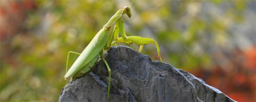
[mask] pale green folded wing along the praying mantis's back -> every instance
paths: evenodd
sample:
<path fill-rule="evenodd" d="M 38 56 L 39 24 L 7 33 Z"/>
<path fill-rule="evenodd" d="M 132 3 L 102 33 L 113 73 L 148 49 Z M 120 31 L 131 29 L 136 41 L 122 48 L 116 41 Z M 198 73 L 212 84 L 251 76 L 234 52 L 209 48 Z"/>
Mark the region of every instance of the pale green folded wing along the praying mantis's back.
<path fill-rule="evenodd" d="M 94 36 L 92 41 L 85 47 L 84 51 L 79 55 L 76 61 L 73 63 L 71 68 L 68 70 L 64 78 L 72 77 L 78 72 L 82 67 L 89 63 L 94 57 L 100 54 L 108 40 L 108 29 L 102 28 Z"/>

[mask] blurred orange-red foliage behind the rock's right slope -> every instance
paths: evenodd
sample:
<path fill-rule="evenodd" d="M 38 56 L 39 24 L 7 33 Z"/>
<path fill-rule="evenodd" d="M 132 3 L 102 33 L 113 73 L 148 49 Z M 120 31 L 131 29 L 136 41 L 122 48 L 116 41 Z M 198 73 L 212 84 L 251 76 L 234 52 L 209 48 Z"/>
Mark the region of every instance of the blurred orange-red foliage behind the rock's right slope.
<path fill-rule="evenodd" d="M 189 72 L 236 101 L 256 101 L 256 48 L 231 54 L 229 60 L 235 66 L 231 71 L 216 65 L 210 70 L 198 68 Z"/>

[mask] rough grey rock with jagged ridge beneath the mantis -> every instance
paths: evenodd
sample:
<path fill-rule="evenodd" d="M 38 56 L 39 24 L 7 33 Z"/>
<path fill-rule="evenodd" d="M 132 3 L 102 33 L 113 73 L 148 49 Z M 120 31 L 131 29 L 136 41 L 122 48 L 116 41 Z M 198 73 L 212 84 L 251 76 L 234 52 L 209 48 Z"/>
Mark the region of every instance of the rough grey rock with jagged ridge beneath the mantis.
<path fill-rule="evenodd" d="M 112 71 L 110 101 L 234 101 L 187 71 L 129 47 L 111 47 L 104 56 Z M 62 88 L 59 102 L 107 101 L 106 82 L 108 71 L 99 59 L 90 74 Z"/>

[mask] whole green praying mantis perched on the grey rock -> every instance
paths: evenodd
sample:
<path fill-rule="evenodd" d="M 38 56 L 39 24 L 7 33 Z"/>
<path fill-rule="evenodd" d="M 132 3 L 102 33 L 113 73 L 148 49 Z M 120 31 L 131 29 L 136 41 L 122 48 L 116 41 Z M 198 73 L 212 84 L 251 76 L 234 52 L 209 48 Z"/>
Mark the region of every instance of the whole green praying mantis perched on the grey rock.
<path fill-rule="evenodd" d="M 72 78 L 72 81 L 84 77 L 90 71 L 92 71 L 93 67 L 95 66 L 96 62 L 98 61 L 99 56 L 101 56 L 102 61 L 107 66 L 109 72 L 109 79 L 108 79 L 108 101 L 109 101 L 109 89 L 110 89 L 110 77 L 111 77 L 111 69 L 108 66 L 108 62 L 105 60 L 103 56 L 103 50 L 108 50 L 110 46 L 116 43 L 125 43 L 130 45 L 132 43 L 138 45 L 140 47 L 139 52 L 142 51 L 143 45 L 145 44 L 156 44 L 157 49 L 157 57 L 160 58 L 160 48 L 158 43 L 150 38 L 142 38 L 140 36 L 127 36 L 124 30 L 124 21 L 121 19 L 121 16 L 126 14 L 129 18 L 132 17 L 130 6 L 125 6 L 124 9 L 118 10 L 110 19 L 109 21 L 103 26 L 102 29 L 94 36 L 92 41 L 85 47 L 84 51 L 79 54 L 76 52 L 69 51 L 67 64 L 66 64 L 66 75 L 64 78 L 67 80 Z M 108 35 L 108 31 L 110 30 L 111 26 L 115 23 L 114 30 L 111 35 Z M 118 37 L 120 33 L 121 37 Z M 114 35 L 114 38 L 113 38 Z M 79 55 L 76 61 L 68 70 L 68 59 L 69 55 Z M 68 70 L 68 71 L 67 71 Z"/>

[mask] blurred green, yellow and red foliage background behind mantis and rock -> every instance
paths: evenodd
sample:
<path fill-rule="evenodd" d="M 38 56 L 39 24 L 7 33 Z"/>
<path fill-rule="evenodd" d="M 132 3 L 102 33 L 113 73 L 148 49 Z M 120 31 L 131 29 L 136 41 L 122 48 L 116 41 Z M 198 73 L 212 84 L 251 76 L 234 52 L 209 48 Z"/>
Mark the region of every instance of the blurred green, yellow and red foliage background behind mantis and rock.
<path fill-rule="evenodd" d="M 0 101 L 57 101 L 66 84 L 68 51 L 81 53 L 110 17 L 130 4 L 2 0 Z M 255 0 L 135 0 L 131 10 L 132 18 L 122 16 L 127 35 L 156 40 L 163 62 L 236 101 L 256 101 Z M 158 60 L 153 44 L 142 53 Z M 69 65 L 76 58 L 71 55 Z"/>

